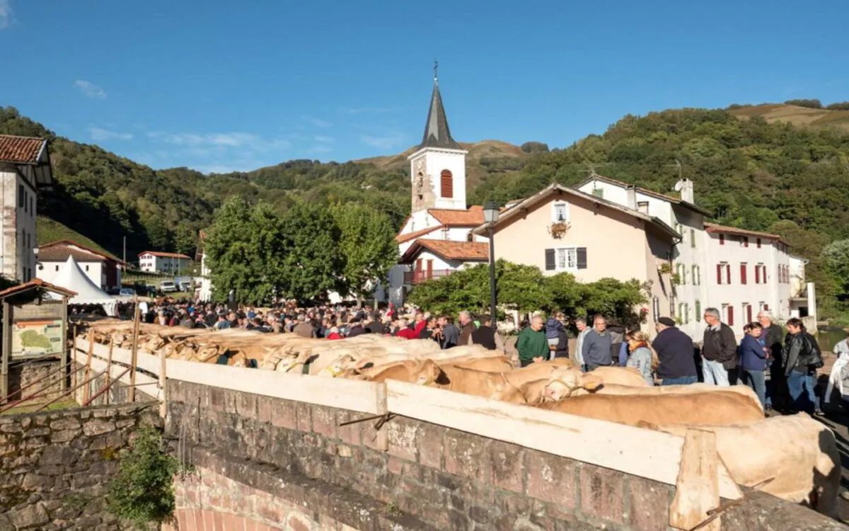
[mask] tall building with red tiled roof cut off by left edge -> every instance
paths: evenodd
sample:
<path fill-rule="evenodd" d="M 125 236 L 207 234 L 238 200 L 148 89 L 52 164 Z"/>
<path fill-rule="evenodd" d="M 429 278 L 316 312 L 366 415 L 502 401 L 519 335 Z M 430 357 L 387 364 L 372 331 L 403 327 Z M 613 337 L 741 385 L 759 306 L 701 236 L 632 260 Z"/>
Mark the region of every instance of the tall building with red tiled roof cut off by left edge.
<path fill-rule="evenodd" d="M 35 277 L 37 194 L 52 185 L 47 140 L 0 135 L 0 274 L 9 280 Z"/>

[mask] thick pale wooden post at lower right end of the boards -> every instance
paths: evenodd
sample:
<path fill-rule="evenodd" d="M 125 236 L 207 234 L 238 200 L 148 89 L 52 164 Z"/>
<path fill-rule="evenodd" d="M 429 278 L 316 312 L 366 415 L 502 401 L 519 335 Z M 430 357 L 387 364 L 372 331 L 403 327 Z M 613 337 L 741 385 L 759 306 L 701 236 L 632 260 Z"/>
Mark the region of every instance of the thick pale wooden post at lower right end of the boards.
<path fill-rule="evenodd" d="M 687 430 L 681 449 L 681 466 L 675 485 L 675 498 L 669 507 L 669 525 L 692 529 L 710 517 L 707 511 L 719 506 L 719 455 L 717 434 Z M 700 529 L 720 531 L 719 518 Z"/>

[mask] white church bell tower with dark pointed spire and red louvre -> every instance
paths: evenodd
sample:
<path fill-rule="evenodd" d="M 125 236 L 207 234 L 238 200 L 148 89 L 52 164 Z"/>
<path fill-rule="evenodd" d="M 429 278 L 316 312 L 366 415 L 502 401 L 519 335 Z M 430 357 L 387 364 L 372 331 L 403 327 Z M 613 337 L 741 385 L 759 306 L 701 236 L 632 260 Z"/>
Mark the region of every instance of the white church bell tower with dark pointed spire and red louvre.
<path fill-rule="evenodd" d="M 437 65 L 433 93 L 419 149 L 408 157 L 413 189 L 413 212 L 428 208 L 466 209 L 466 154 L 451 138 L 445 107 L 439 92 Z"/>

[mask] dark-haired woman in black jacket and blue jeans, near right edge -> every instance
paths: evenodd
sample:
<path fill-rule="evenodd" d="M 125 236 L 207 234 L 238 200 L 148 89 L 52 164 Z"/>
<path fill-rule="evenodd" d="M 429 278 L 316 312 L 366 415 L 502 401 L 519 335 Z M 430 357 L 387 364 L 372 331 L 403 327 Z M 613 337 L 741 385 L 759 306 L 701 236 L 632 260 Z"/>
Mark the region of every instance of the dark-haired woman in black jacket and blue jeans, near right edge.
<path fill-rule="evenodd" d="M 817 369 L 823 366 L 823 355 L 816 338 L 807 333 L 801 319 L 787 320 L 787 339 L 781 360 L 793 400 L 791 412 L 819 412 L 813 387 L 817 384 Z"/>

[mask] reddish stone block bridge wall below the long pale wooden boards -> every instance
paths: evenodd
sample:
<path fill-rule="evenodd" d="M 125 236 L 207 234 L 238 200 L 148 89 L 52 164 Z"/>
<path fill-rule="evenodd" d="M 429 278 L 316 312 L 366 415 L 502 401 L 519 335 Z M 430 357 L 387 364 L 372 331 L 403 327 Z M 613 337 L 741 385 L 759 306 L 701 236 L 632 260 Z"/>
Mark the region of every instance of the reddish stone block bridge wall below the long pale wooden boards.
<path fill-rule="evenodd" d="M 667 528 L 674 488 L 664 483 L 405 417 L 384 426 L 382 451 L 373 421 L 339 426 L 367 415 L 182 381 L 167 389 L 177 448 L 233 480 L 228 495 L 253 500 L 227 506 L 214 478 L 184 483 L 178 507 L 201 520 L 210 511 L 299 531 Z M 312 516 L 293 525 L 291 507 Z"/>

